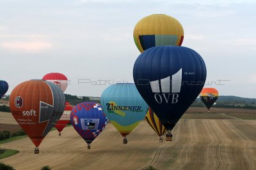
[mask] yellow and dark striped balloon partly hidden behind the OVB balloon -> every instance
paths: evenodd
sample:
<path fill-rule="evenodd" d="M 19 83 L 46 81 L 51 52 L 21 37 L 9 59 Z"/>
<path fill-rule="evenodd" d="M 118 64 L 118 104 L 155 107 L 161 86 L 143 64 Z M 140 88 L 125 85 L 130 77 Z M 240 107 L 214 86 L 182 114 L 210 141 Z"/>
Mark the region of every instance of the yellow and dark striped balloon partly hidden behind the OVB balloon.
<path fill-rule="evenodd" d="M 159 136 L 159 142 L 163 142 L 163 138 L 161 136 L 163 136 L 167 130 L 151 108 L 148 108 L 145 120 Z"/>

